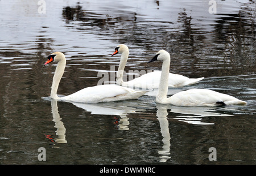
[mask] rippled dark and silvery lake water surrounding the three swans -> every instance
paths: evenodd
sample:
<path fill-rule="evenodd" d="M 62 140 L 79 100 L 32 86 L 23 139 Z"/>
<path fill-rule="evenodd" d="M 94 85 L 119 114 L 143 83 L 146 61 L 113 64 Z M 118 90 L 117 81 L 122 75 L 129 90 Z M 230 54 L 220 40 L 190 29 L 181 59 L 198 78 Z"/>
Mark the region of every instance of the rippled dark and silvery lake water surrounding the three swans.
<path fill-rule="evenodd" d="M 217 1 L 0 2 L 0 164 L 256 164 L 255 2 Z M 71 104 L 48 97 L 53 51 L 67 57 L 58 89 L 68 95 L 97 85 L 130 49 L 128 70 L 171 54 L 171 71 L 248 102 L 243 106 L 179 108 L 138 100 Z M 138 75 L 135 75 L 138 76 Z M 110 81 L 111 82 L 111 81 Z M 53 140 L 51 139 L 53 138 Z M 46 161 L 38 149 L 46 149 Z M 209 161 L 210 147 L 217 161 Z"/>

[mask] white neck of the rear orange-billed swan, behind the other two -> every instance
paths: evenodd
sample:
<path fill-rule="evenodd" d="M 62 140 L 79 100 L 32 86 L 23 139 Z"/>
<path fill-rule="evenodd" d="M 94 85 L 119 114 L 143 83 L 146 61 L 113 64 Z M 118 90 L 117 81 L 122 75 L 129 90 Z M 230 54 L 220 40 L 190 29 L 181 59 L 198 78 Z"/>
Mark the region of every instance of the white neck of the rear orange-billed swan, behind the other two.
<path fill-rule="evenodd" d="M 123 71 L 125 70 L 125 65 L 128 57 L 129 57 L 129 50 L 126 49 L 125 51 L 122 52 L 120 63 L 117 70 L 117 84 L 119 85 L 123 84 Z"/>

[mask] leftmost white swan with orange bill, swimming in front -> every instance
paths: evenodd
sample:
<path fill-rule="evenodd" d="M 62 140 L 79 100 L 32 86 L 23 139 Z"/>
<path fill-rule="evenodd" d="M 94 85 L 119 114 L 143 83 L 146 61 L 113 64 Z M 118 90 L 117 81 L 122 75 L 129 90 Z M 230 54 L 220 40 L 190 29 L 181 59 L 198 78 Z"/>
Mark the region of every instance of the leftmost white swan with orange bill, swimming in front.
<path fill-rule="evenodd" d="M 94 87 L 87 87 L 77 91 L 71 95 L 65 97 L 57 96 L 57 89 L 59 87 L 60 79 L 64 74 L 66 58 L 61 52 L 55 52 L 48 56 L 48 63 L 55 61 L 57 67 L 52 80 L 51 87 L 51 98 L 54 100 L 63 100 L 71 102 L 82 102 L 82 103 L 97 103 L 97 102 L 109 102 L 119 100 L 131 100 L 136 99 L 144 95 L 148 91 L 135 91 L 130 88 L 121 87 L 119 85 L 96 85 Z"/>

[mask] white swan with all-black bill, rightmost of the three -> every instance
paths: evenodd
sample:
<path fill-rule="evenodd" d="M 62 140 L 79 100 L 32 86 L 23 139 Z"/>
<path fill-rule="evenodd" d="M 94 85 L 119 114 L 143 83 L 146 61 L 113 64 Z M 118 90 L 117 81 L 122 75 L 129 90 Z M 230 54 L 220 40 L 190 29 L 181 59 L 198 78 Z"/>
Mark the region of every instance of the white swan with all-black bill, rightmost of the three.
<path fill-rule="evenodd" d="M 175 93 L 175 95 L 167 98 L 168 76 L 170 69 L 170 54 L 165 50 L 156 53 L 153 61 L 163 61 L 162 74 L 156 95 L 156 102 L 160 104 L 172 104 L 175 106 L 216 106 L 216 105 L 243 105 L 245 101 L 238 100 L 235 97 L 211 91 L 209 89 L 189 89 L 187 91 Z"/>

